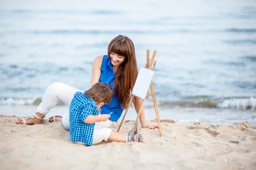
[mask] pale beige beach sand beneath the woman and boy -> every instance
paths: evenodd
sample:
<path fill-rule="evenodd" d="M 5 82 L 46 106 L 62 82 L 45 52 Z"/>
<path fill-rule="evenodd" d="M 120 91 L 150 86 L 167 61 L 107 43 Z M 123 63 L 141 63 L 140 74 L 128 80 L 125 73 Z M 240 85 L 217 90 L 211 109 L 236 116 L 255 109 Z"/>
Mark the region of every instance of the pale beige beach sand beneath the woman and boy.
<path fill-rule="evenodd" d="M 248 122 L 224 126 L 161 120 L 162 137 L 158 129 L 142 129 L 143 143 L 84 147 L 70 141 L 60 122 L 17 125 L 16 120 L 0 115 L 3 170 L 256 170 L 256 127 Z M 134 122 L 125 121 L 120 131 L 130 130 Z M 111 128 L 116 131 L 118 125 Z"/>

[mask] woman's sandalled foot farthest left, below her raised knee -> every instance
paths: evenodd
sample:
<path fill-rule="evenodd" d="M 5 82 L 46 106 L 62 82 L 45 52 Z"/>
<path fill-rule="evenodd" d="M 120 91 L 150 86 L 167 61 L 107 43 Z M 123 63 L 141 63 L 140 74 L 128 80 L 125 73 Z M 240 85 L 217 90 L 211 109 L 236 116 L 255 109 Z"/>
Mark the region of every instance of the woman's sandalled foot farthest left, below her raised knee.
<path fill-rule="evenodd" d="M 28 125 L 32 125 L 32 124 L 42 124 L 44 121 L 44 116 L 43 114 L 37 112 L 35 113 L 34 116 L 30 116 L 30 117 L 19 117 L 17 120 L 18 124 L 28 124 Z"/>

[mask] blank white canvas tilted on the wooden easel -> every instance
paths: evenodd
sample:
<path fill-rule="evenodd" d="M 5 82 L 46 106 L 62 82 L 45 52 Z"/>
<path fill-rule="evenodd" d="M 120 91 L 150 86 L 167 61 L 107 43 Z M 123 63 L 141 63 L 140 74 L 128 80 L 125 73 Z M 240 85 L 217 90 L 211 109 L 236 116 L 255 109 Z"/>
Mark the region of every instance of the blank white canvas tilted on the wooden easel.
<path fill-rule="evenodd" d="M 132 90 L 132 94 L 139 98 L 145 99 L 153 76 L 154 71 L 140 67 L 138 77 Z"/>

